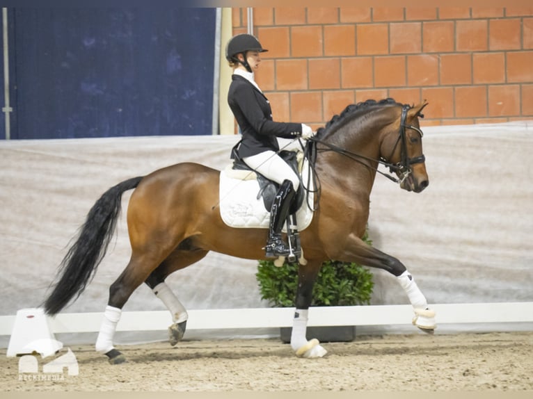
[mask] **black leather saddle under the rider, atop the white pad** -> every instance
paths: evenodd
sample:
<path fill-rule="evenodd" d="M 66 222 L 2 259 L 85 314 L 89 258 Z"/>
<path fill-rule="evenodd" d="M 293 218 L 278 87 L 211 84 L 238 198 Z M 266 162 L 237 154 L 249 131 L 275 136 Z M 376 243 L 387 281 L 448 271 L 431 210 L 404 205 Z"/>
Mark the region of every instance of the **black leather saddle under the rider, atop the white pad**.
<path fill-rule="evenodd" d="M 280 151 L 278 155 L 292 168 L 292 170 L 294 170 L 294 172 L 296 172 L 297 176 L 300 176 L 299 160 L 297 156 L 298 154 L 296 152 Z M 257 199 L 262 198 L 264 208 L 266 209 L 266 211 L 270 212 L 274 197 L 276 197 L 276 193 L 278 193 L 280 185 L 276 183 L 276 181 L 271 181 L 270 179 L 267 179 L 266 177 L 264 177 L 264 175 L 260 174 L 256 170 L 253 170 L 248 165 L 246 165 L 246 163 L 244 163 L 244 161 L 239 158 L 235 147 L 232 149 L 232 158 L 234 160 L 232 164 L 232 170 L 247 170 L 250 172 L 250 174 L 255 174 L 255 178 L 257 179 L 257 183 L 259 184 Z M 253 177 L 248 177 L 248 179 L 250 178 Z M 303 185 L 300 184 L 298 191 L 296 192 L 296 196 L 294 197 L 294 201 L 291 204 L 291 208 L 289 209 L 289 213 L 295 213 L 296 211 L 298 211 L 301 204 L 303 203 L 303 198 Z"/>

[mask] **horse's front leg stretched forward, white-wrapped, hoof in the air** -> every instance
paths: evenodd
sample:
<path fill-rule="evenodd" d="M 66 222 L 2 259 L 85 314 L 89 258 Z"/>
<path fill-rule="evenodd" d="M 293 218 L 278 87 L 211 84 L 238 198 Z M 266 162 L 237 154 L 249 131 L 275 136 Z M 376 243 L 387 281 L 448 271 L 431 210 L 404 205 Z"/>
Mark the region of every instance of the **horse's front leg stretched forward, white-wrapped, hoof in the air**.
<path fill-rule="evenodd" d="M 436 328 L 435 311 L 429 309 L 426 297 L 418 288 L 413 275 L 395 257 L 391 257 L 376 248 L 371 247 L 356 236 L 349 236 L 350 245 L 344 251 L 340 259 L 344 261 L 357 262 L 372 268 L 380 268 L 390 272 L 397 278 L 401 288 L 404 288 L 409 302 L 413 305 L 415 317 L 413 325 L 424 332 L 433 333 Z"/>

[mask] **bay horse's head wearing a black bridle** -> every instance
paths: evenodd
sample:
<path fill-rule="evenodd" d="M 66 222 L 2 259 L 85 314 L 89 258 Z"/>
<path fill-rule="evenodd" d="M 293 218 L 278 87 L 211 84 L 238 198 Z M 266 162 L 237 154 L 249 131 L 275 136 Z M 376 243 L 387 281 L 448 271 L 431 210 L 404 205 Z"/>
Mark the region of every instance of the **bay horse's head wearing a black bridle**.
<path fill-rule="evenodd" d="M 385 161 L 392 164 L 390 170 L 397 174 L 400 187 L 415 193 L 420 193 L 429 185 L 422 153 L 422 130 L 418 122 L 419 117 L 424 117 L 422 109 L 427 104 L 424 101 L 417 106 L 403 106 L 398 123 L 392 125 L 395 129 L 387 133 L 381 145 L 381 154 Z"/>

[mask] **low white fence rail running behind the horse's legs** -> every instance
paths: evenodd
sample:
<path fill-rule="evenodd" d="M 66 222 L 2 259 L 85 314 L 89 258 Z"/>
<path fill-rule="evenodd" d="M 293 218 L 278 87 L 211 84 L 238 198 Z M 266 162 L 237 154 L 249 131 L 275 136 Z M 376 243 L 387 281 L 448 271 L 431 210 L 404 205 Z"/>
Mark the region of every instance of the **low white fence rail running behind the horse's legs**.
<path fill-rule="evenodd" d="M 533 323 L 533 302 L 435 304 L 437 325 L 461 323 Z M 187 330 L 290 327 L 294 308 L 191 310 Z M 16 316 L 0 316 L 0 335 L 10 335 Z M 406 325 L 411 305 L 312 307 L 309 325 Z M 97 332 L 101 312 L 58 314 L 49 318 L 51 332 Z M 156 331 L 172 323 L 168 311 L 125 311 L 117 331 Z M 533 329 L 533 325 L 532 325 Z"/>

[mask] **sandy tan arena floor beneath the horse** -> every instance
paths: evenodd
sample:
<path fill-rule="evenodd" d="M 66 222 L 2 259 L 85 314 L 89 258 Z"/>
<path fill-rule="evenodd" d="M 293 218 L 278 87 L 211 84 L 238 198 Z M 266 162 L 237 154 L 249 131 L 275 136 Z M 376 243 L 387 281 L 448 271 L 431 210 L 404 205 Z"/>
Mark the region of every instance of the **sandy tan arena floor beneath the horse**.
<path fill-rule="evenodd" d="M 278 339 L 122 345 L 112 366 L 72 346 L 78 375 L 19 373 L 0 352 L 0 391 L 533 391 L 533 332 L 358 336 L 300 359 Z M 59 357 L 66 352 L 55 357 Z M 54 359 L 40 359 L 42 365 Z"/>

